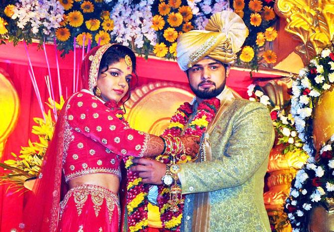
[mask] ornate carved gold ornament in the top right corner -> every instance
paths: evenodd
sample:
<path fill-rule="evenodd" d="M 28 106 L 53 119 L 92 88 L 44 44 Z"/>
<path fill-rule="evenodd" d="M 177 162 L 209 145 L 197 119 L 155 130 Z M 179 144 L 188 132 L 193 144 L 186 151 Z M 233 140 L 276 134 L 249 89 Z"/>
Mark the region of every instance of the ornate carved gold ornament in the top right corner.
<path fill-rule="evenodd" d="M 288 22 L 285 30 L 303 43 L 296 47 L 308 63 L 334 35 L 334 0 L 277 0 L 275 10 Z"/>

